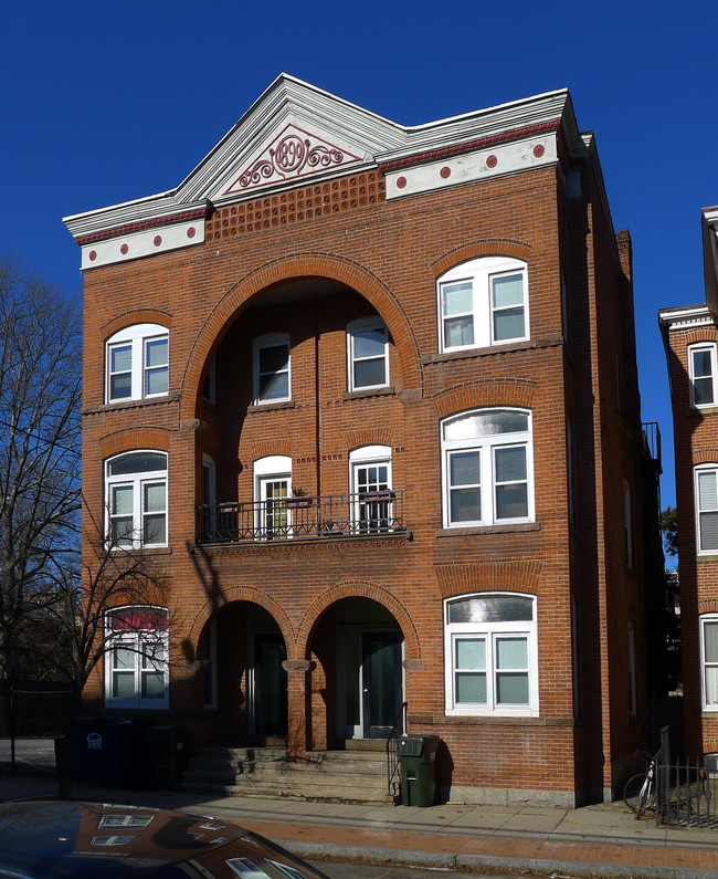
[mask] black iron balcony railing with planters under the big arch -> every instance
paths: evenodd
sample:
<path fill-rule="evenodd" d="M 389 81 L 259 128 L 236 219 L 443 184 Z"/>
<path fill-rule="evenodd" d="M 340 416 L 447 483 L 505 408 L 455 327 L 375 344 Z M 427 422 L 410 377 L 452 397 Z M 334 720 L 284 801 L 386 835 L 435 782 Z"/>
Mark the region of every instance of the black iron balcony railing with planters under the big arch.
<path fill-rule="evenodd" d="M 200 545 L 398 537 L 406 534 L 403 491 L 278 498 L 202 506 Z"/>

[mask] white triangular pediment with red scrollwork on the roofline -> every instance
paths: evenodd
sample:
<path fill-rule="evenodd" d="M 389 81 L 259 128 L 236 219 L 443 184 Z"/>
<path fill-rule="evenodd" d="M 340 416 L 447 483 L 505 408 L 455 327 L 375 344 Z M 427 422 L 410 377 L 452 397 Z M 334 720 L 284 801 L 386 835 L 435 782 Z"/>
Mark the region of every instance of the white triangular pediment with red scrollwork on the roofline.
<path fill-rule="evenodd" d="M 282 75 L 177 196 L 180 201 L 223 203 L 373 166 L 378 154 L 400 149 L 405 140 L 405 129 L 395 123 Z"/>

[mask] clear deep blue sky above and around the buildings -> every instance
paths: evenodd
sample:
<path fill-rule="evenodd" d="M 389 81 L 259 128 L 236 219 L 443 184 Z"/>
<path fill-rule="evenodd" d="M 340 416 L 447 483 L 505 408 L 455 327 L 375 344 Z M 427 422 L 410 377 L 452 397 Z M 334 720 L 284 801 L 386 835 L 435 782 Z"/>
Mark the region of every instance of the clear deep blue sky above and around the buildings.
<path fill-rule="evenodd" d="M 659 307 L 703 300 L 700 208 L 718 203 L 718 6 L 7 3 L 0 252 L 67 294 L 61 218 L 171 189 L 281 72 L 405 125 L 568 86 L 634 244 L 643 418 L 673 447 Z"/>

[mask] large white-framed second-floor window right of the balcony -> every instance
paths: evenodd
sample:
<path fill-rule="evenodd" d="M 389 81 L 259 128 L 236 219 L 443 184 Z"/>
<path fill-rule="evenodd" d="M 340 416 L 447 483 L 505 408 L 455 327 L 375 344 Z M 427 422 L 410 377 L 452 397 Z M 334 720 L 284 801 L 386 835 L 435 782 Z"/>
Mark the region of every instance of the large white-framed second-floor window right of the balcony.
<path fill-rule="evenodd" d="M 461 412 L 441 438 L 444 527 L 534 521 L 530 411 Z"/>

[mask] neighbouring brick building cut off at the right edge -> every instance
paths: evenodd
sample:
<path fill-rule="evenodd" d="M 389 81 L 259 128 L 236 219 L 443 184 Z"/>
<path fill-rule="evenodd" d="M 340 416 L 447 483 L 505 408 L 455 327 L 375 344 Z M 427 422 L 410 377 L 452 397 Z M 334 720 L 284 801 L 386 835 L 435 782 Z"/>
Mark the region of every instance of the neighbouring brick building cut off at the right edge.
<path fill-rule="evenodd" d="M 678 509 L 686 752 L 718 752 L 718 208 L 703 211 L 706 302 L 665 308 Z"/>

